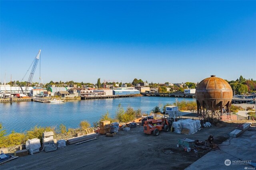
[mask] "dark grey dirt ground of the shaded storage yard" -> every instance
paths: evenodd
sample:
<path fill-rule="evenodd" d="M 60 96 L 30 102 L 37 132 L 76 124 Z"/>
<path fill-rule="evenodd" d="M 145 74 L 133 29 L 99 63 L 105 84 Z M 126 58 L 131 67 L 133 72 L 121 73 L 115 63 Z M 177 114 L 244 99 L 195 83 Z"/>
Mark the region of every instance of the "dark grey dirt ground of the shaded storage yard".
<path fill-rule="evenodd" d="M 143 127 L 118 132 L 114 137 L 99 135 L 79 145 L 68 145 L 52 152 L 40 152 L 19 157 L 0 166 L 9 169 L 185 169 L 202 157 L 204 153 L 194 154 L 177 148 L 178 138 L 204 141 L 209 134 L 214 136 L 215 144 L 228 138 L 228 133 L 238 124 L 223 123 L 224 127 L 203 128 L 192 135 L 161 131 L 159 136 L 144 134 Z M 172 150 L 173 154 L 163 151 Z"/>

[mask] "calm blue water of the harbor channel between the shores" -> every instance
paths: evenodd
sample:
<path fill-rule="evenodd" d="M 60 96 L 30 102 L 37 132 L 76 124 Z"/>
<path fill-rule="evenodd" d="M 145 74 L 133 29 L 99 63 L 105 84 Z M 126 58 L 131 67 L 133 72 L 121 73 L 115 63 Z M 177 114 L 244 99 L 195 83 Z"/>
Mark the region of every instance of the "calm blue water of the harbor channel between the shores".
<path fill-rule="evenodd" d="M 184 98 L 178 98 L 182 101 Z M 187 101 L 195 99 L 185 99 Z M 108 111 L 114 118 L 118 104 L 150 113 L 155 106 L 175 103 L 174 97 L 129 97 L 117 99 L 94 99 L 66 101 L 64 103 L 14 102 L 0 103 L 0 122 L 7 133 L 12 130 L 24 132 L 35 127 L 56 127 L 64 124 L 67 128 L 77 128 L 83 120 L 92 123 Z"/>

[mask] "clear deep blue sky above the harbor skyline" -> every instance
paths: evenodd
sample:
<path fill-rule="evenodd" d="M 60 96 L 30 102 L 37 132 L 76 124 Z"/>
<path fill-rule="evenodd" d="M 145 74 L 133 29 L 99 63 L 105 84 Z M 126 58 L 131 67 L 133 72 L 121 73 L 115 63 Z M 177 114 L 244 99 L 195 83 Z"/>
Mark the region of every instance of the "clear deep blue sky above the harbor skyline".
<path fill-rule="evenodd" d="M 0 24 L 1 82 L 39 49 L 43 83 L 256 79 L 256 1 L 1 0 Z"/>

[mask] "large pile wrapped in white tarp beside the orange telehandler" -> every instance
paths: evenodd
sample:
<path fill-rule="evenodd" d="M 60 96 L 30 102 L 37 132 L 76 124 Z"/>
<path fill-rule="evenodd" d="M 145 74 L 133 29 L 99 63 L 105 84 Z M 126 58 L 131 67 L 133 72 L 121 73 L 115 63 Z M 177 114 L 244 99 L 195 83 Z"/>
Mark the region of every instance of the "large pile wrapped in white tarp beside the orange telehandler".
<path fill-rule="evenodd" d="M 189 130 L 188 134 L 194 134 L 201 129 L 200 121 L 192 119 L 182 119 L 177 122 L 173 122 L 172 125 L 174 127 L 174 132 L 179 134 L 181 133 L 183 128 Z"/>

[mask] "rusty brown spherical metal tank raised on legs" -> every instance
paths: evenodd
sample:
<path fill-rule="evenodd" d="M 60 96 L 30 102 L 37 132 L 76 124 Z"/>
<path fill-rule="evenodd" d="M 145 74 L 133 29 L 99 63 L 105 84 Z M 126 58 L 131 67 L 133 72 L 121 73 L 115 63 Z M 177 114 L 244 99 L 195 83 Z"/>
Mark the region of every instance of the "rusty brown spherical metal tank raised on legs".
<path fill-rule="evenodd" d="M 221 109 L 221 106 L 231 103 L 232 96 L 233 91 L 228 82 L 215 75 L 202 80 L 196 87 L 196 100 L 208 110 Z"/>

